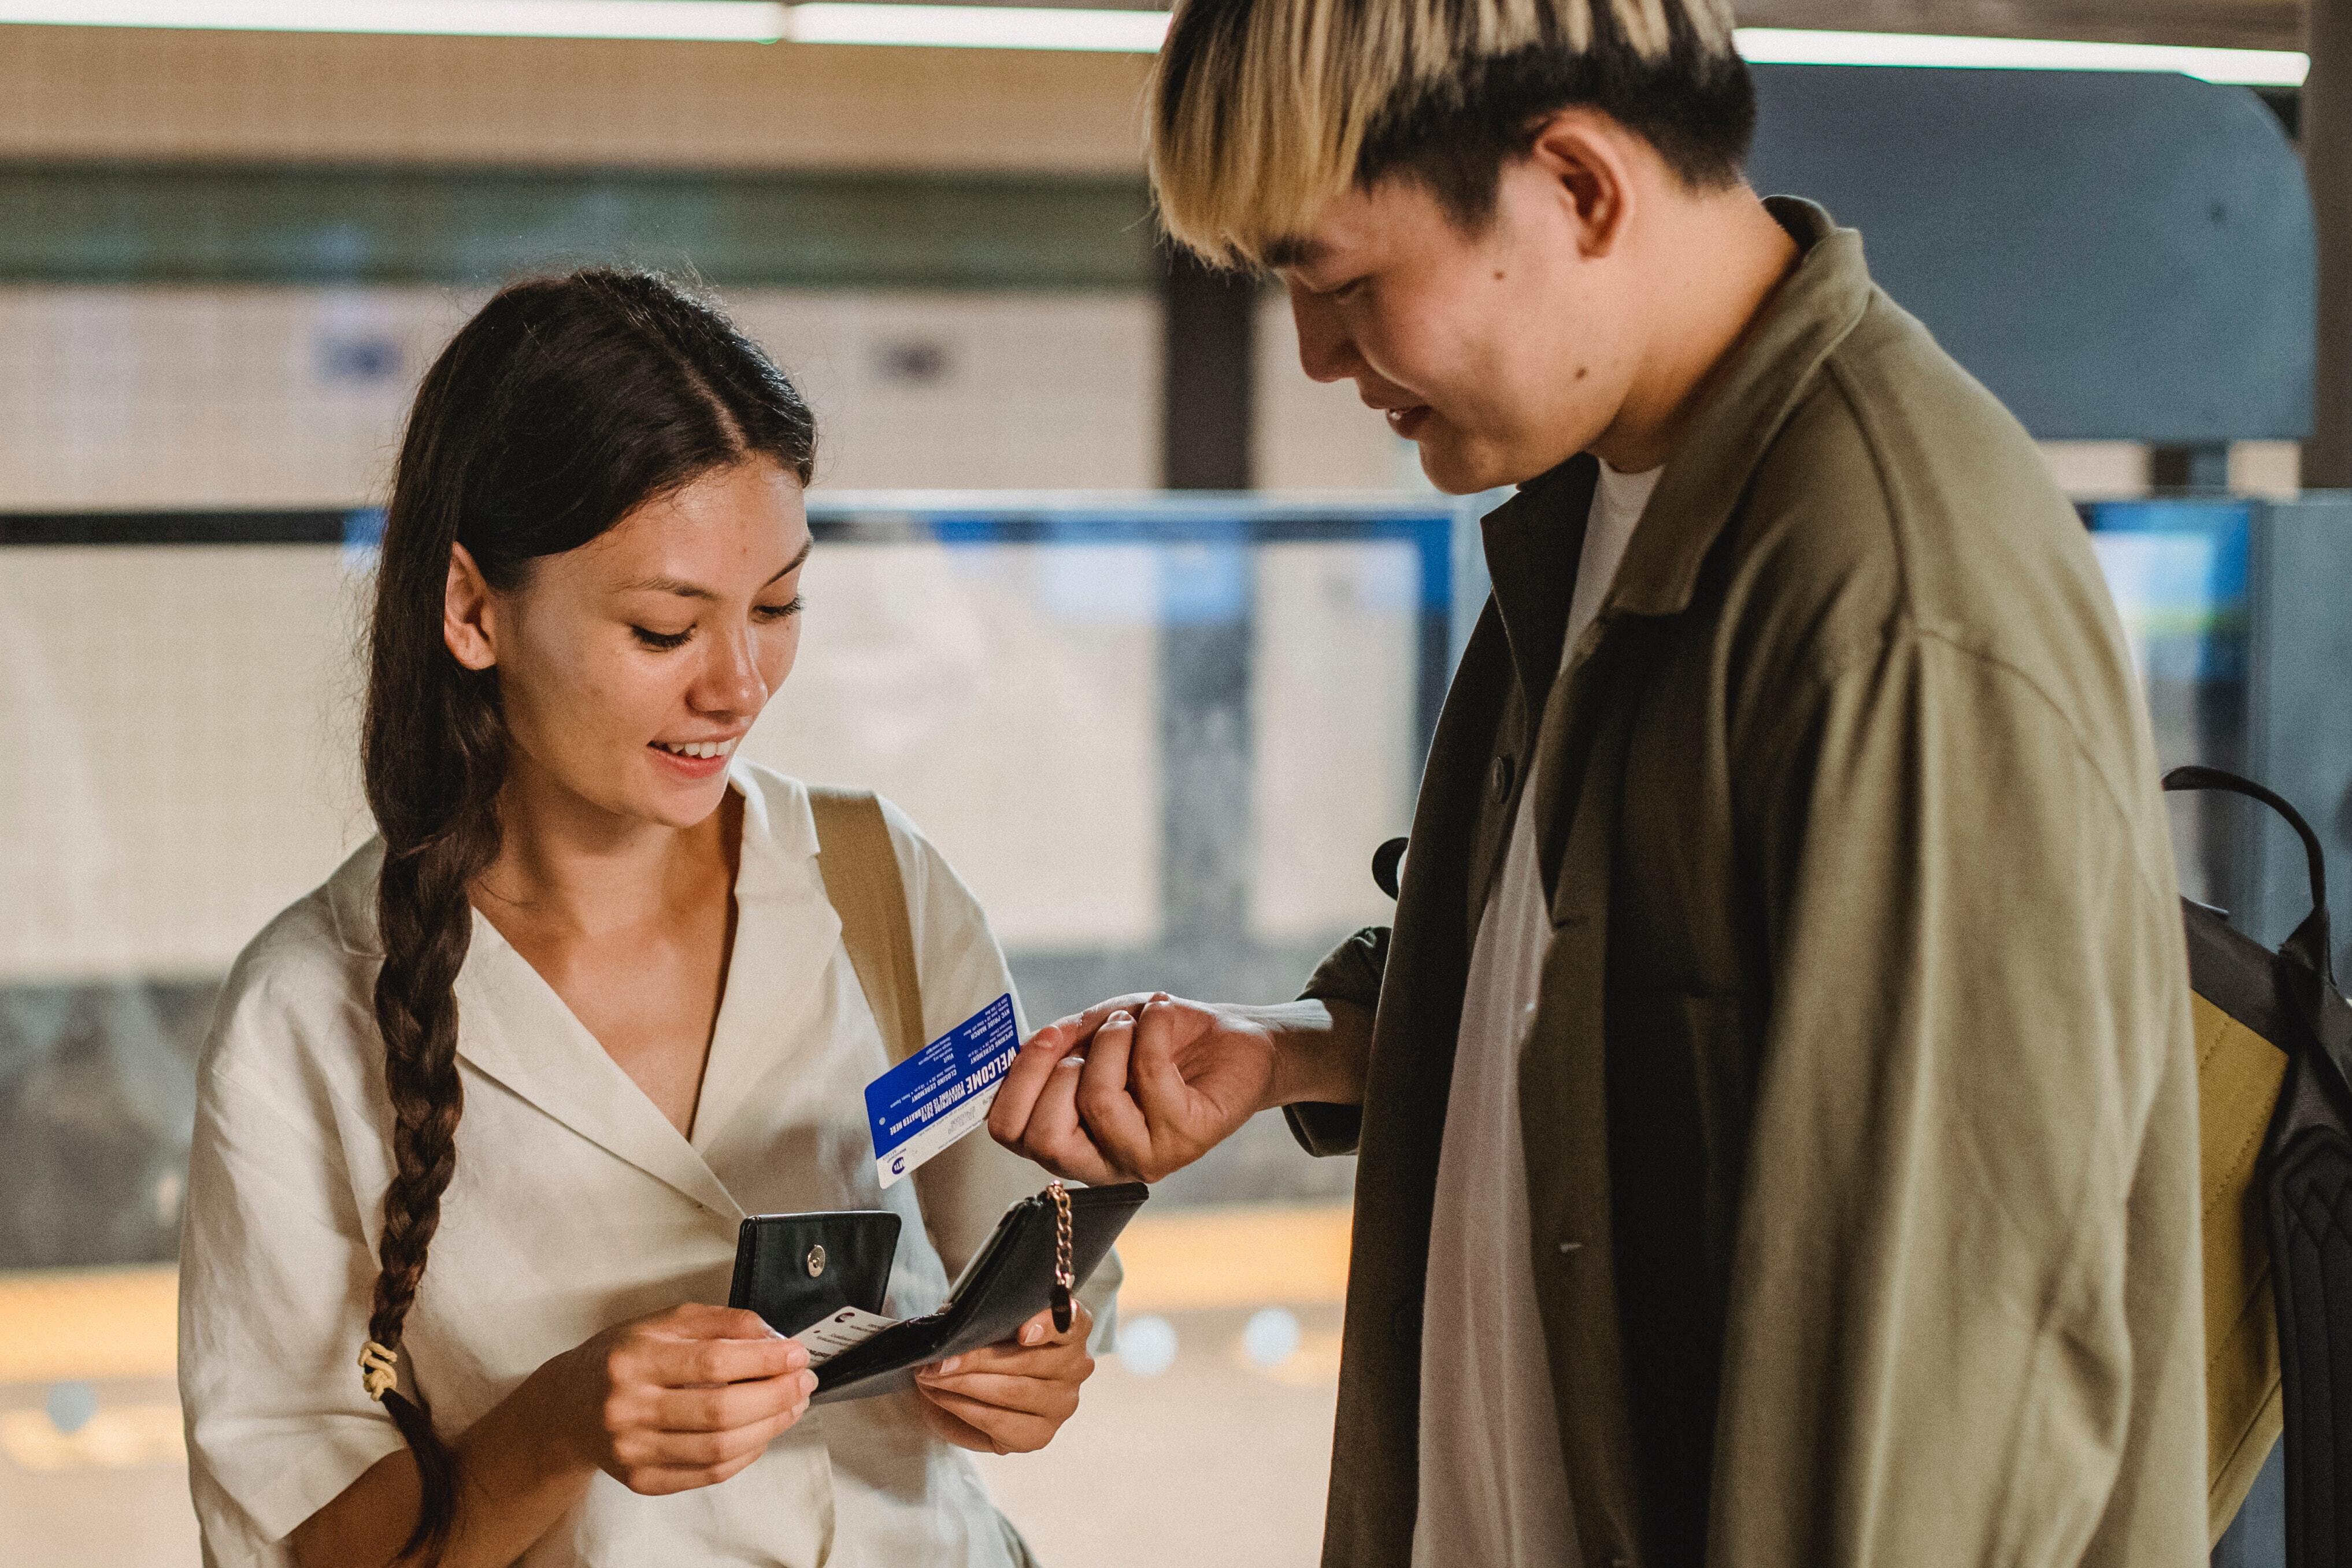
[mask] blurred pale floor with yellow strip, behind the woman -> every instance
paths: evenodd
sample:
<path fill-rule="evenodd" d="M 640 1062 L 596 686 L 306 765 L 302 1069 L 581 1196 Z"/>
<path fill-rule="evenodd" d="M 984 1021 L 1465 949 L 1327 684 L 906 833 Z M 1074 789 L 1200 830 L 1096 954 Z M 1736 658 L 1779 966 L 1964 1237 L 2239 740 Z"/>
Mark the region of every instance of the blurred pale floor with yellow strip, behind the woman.
<path fill-rule="evenodd" d="M 1345 1244 L 1341 1206 L 1136 1222 L 1122 1314 L 1171 1331 L 1174 1359 L 1105 1356 L 1051 1448 L 981 1460 L 1047 1568 L 1315 1561 Z M 0 1276 L 0 1568 L 200 1563 L 169 1302 L 167 1272 Z M 94 1401 L 73 1436 L 59 1389 Z"/>

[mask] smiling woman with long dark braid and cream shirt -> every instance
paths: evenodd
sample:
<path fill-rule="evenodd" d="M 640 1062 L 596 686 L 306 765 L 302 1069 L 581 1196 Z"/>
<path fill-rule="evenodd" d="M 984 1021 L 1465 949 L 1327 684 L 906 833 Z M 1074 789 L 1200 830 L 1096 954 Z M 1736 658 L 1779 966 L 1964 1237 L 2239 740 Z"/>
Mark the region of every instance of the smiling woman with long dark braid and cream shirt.
<path fill-rule="evenodd" d="M 887 1307 L 924 1312 L 1040 1185 L 967 1140 L 962 1201 L 877 1190 L 889 1053 L 809 792 L 734 759 L 800 644 L 814 442 L 649 275 L 508 287 L 428 371 L 369 637 L 381 837 L 245 950 L 205 1046 L 207 1563 L 1030 1561 L 960 1448 L 1047 1443 L 1094 1314 L 809 1410 L 807 1352 L 708 1305 L 746 1213 L 896 1208 Z M 936 1037 L 1011 980 L 887 823 Z"/>

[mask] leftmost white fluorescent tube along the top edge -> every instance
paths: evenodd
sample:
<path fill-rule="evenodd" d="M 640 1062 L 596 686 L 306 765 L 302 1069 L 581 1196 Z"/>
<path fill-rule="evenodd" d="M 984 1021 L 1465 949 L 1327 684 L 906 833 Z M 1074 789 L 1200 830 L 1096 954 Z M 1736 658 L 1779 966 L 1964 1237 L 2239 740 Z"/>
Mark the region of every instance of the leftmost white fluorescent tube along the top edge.
<path fill-rule="evenodd" d="M 0 24 L 774 42 L 771 0 L 0 0 Z"/>

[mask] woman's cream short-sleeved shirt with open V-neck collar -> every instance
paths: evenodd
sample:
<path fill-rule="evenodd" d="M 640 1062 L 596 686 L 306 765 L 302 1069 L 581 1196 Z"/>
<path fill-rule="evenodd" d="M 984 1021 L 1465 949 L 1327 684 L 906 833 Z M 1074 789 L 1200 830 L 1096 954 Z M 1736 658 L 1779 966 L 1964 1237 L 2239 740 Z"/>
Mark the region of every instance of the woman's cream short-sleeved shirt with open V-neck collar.
<path fill-rule="evenodd" d="M 456 978 L 466 1114 L 402 1385 L 463 1432 L 548 1356 L 677 1302 L 724 1302 L 746 1213 L 894 1208 L 889 1312 L 929 1312 L 948 1265 L 1047 1175 L 985 1133 L 946 1154 L 955 1213 L 927 1234 L 915 1182 L 882 1192 L 866 1084 L 887 1065 L 816 870 L 807 790 L 736 764 L 743 853 L 727 994 L 694 1138 L 475 914 Z M 971 891 L 889 811 L 924 1032 L 1011 990 Z M 179 1387 L 205 1561 L 287 1563 L 287 1533 L 400 1448 L 358 1354 L 390 1180 L 372 1016 L 381 846 L 254 938 L 221 992 L 198 1088 L 181 1239 Z M 941 1204 L 948 1208 L 948 1204 Z M 946 1255 L 946 1265 L 943 1265 Z M 1087 1295 L 1108 1335 L 1115 1267 Z M 670 1497 L 595 1476 L 520 1561 L 1000 1568 L 1025 1549 L 913 1394 L 811 1408 L 743 1474 Z"/>

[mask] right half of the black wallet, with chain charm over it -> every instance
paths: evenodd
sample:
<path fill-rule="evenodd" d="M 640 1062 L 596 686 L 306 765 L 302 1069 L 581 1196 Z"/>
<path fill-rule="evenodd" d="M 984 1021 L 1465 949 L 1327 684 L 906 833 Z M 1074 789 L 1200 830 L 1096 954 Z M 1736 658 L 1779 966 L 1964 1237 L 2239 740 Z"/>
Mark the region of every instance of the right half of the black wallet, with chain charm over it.
<path fill-rule="evenodd" d="M 1148 1197 L 1150 1187 L 1143 1182 L 1070 1190 L 1070 1274 L 1075 1284 L 1087 1284 L 1103 1265 L 1110 1244 L 1120 1239 Z M 917 1366 L 1014 1338 L 1021 1333 L 1021 1324 L 1054 1302 L 1054 1199 L 1047 1192 L 1021 1199 L 997 1220 L 988 1246 L 964 1265 L 964 1274 L 948 1291 L 948 1302 L 938 1312 L 891 1324 L 863 1345 L 818 1366 L 811 1403 L 894 1394 L 915 1385 Z"/>

